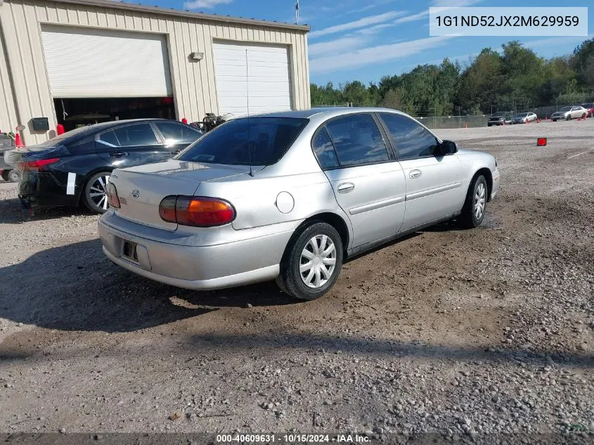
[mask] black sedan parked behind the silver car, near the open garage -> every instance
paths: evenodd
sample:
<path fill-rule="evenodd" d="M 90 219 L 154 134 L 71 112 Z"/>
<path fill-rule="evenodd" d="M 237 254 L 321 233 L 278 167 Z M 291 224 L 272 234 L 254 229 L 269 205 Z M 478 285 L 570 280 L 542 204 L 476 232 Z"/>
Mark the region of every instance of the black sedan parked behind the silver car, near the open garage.
<path fill-rule="evenodd" d="M 120 120 L 67 131 L 37 146 L 10 150 L 6 162 L 18 167 L 19 197 L 26 207 L 86 205 L 108 208 L 105 186 L 117 167 L 172 157 L 202 136 L 173 120 Z"/>

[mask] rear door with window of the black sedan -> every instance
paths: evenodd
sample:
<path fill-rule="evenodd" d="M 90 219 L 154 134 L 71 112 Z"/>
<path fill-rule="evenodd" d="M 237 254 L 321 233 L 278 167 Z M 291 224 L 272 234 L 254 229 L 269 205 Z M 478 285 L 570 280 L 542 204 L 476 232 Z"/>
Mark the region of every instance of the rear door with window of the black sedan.
<path fill-rule="evenodd" d="M 149 122 L 124 124 L 97 134 L 98 155 L 121 168 L 159 162 L 171 157 Z"/>

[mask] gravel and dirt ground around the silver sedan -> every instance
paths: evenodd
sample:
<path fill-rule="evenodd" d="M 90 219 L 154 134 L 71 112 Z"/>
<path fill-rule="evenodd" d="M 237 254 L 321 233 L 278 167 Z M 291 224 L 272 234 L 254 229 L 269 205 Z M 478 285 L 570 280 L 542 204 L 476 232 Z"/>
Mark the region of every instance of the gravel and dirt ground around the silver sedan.
<path fill-rule="evenodd" d="M 153 283 L 105 259 L 96 216 L 25 219 L 1 186 L 0 432 L 592 439 L 594 120 L 436 133 L 497 156 L 483 226 L 354 259 L 314 302 Z"/>

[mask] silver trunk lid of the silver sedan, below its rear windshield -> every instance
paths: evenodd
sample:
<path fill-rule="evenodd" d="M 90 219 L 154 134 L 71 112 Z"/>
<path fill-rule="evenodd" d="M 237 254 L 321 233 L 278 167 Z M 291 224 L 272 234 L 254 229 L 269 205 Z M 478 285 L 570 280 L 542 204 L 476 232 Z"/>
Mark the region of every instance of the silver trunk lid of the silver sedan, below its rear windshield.
<path fill-rule="evenodd" d="M 245 174 L 247 166 L 200 164 L 181 160 L 167 160 L 115 170 L 110 182 L 120 198 L 118 216 L 147 226 L 174 231 L 177 224 L 163 221 L 159 205 L 169 195 L 192 196 L 202 181 Z"/>

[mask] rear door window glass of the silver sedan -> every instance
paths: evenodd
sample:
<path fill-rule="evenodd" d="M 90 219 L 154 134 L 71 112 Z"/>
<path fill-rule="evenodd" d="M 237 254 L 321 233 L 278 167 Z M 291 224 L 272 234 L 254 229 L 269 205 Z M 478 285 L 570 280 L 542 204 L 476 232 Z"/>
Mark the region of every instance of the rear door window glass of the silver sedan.
<path fill-rule="evenodd" d="M 349 115 L 325 125 L 340 167 L 387 162 L 386 143 L 370 115 Z"/>

